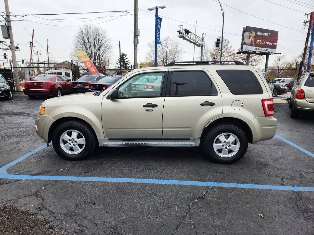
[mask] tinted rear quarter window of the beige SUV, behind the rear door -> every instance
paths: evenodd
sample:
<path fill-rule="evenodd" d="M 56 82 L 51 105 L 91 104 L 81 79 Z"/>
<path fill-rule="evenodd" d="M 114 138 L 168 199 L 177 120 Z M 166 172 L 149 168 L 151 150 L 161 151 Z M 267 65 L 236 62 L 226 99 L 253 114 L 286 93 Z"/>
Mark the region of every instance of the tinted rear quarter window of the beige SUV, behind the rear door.
<path fill-rule="evenodd" d="M 234 95 L 263 94 L 257 77 L 250 70 L 216 70 Z"/>

